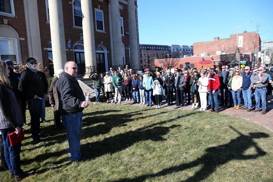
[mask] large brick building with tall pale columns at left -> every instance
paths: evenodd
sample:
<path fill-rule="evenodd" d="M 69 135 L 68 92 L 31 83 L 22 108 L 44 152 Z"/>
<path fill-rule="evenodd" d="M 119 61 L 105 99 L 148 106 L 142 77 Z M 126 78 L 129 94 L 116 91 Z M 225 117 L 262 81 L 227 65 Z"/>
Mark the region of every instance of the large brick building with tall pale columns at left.
<path fill-rule="evenodd" d="M 75 61 L 79 74 L 90 66 L 103 72 L 124 64 L 138 69 L 137 0 L 5 0 L 0 56 L 22 63 L 34 57 L 54 71 Z"/>

